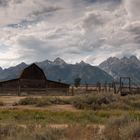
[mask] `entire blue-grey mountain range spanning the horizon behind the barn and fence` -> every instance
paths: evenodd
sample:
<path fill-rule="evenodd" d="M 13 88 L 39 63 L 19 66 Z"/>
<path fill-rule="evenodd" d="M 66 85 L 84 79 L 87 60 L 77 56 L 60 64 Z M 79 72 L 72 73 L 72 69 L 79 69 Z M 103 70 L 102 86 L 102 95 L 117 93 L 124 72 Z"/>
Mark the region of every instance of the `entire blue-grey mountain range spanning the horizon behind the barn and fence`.
<path fill-rule="evenodd" d="M 133 83 L 140 84 L 140 60 L 136 56 L 121 59 L 110 57 L 99 66 L 92 66 L 84 61 L 68 64 L 61 58 L 35 63 L 43 69 L 49 80 L 73 84 L 74 79 L 80 77 L 82 84 L 95 84 L 98 81 L 104 83 L 105 81 L 111 82 L 114 79 L 119 81 L 120 77 L 130 77 Z M 21 63 L 7 69 L 0 67 L 0 81 L 19 77 L 27 66 L 26 63 Z"/>

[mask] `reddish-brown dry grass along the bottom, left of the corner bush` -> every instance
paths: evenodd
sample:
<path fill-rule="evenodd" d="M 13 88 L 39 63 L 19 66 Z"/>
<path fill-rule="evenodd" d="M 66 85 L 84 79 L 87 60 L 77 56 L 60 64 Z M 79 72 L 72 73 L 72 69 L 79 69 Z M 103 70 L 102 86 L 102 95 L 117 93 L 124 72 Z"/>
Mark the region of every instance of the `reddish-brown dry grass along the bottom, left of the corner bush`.
<path fill-rule="evenodd" d="M 0 125 L 1 140 L 99 140 L 99 132 L 97 126 L 83 125 L 70 125 L 67 128 Z"/>

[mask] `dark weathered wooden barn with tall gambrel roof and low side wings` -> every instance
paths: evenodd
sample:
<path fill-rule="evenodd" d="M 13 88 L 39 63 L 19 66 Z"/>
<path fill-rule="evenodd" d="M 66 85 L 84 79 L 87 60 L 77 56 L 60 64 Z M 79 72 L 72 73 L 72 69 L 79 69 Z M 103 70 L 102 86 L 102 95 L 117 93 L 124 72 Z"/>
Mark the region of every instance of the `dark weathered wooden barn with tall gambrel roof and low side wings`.
<path fill-rule="evenodd" d="M 55 92 L 67 93 L 68 84 L 48 80 L 43 70 L 36 64 L 25 68 L 19 78 L 0 82 L 0 93 L 16 93 L 20 95 L 23 92 L 45 94 Z"/>

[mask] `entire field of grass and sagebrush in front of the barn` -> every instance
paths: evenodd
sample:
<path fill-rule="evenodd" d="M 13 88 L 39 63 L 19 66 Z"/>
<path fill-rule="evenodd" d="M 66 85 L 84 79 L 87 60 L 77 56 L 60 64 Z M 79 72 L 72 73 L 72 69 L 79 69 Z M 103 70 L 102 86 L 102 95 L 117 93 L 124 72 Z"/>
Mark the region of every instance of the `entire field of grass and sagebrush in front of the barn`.
<path fill-rule="evenodd" d="M 140 95 L 1 96 L 0 140 L 24 139 L 139 140 Z"/>

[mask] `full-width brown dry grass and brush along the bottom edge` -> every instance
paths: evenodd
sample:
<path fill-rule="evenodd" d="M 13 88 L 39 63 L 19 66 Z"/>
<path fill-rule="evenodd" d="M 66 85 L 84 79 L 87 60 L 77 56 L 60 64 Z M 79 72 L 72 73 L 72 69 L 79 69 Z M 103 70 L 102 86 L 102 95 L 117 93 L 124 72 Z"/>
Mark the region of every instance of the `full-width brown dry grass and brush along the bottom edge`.
<path fill-rule="evenodd" d="M 1 140 L 139 140 L 139 132 L 140 122 L 128 116 L 110 118 L 104 125 L 0 125 Z"/>

